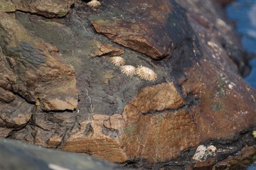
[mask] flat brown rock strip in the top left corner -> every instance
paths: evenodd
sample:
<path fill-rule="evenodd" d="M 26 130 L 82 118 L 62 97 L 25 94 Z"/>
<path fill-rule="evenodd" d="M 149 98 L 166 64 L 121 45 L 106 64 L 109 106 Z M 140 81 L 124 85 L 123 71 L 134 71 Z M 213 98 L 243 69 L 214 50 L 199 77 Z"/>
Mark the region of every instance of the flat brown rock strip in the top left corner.
<path fill-rule="evenodd" d="M 48 0 L 48 1 L 22 1 L 22 0 L 4 0 L 0 2 L 0 12 L 26 11 L 46 16 L 48 18 L 62 17 L 71 11 L 70 6 L 75 0 Z"/>

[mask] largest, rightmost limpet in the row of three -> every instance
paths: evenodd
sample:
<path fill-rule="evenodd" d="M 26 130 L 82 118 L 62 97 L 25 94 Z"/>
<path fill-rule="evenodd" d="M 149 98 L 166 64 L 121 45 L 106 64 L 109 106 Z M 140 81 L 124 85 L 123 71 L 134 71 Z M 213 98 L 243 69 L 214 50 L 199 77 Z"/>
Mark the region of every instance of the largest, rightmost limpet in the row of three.
<path fill-rule="evenodd" d="M 148 67 L 144 67 L 142 65 L 137 67 L 136 74 L 140 78 L 146 79 L 149 81 L 155 81 L 157 78 L 157 74 L 153 70 L 149 69 Z"/>

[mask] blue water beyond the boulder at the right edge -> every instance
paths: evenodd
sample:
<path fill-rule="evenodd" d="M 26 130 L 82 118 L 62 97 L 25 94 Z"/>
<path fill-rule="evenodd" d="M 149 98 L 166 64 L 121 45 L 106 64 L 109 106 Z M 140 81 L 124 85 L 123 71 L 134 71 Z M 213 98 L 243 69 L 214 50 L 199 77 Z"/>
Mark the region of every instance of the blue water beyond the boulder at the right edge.
<path fill-rule="evenodd" d="M 242 47 L 256 55 L 256 1 L 237 0 L 227 7 L 228 17 L 235 20 L 242 35 Z M 245 80 L 256 89 L 256 58 L 249 62 L 252 72 Z"/>

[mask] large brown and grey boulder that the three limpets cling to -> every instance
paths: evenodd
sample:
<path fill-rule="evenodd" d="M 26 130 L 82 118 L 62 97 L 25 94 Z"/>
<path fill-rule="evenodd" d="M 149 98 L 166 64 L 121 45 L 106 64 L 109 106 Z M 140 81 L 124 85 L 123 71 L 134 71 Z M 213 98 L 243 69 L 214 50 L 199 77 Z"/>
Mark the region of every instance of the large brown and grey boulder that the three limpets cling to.
<path fill-rule="evenodd" d="M 145 169 L 210 167 L 255 145 L 246 54 L 213 1 L 69 3 L 63 18 L 0 13 L 1 137 Z M 122 74 L 116 55 L 156 81 Z M 214 154 L 193 159 L 200 145 Z"/>

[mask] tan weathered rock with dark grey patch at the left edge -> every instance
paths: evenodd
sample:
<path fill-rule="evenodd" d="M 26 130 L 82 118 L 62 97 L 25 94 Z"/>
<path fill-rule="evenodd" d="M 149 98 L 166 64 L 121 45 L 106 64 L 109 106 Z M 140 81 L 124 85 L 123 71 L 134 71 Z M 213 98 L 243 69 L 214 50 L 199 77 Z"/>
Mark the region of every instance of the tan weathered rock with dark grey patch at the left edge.
<path fill-rule="evenodd" d="M 65 64 L 56 47 L 32 37 L 9 15 L 0 13 L 0 16 L 3 29 L 0 35 L 4 37 L 0 45 L 9 60 L 3 67 L 8 72 L 11 67 L 13 72 L 12 79 L 7 76 L 1 87 L 29 102 L 39 102 L 45 111 L 74 110 L 78 104 L 78 91 L 73 67 Z M 7 71 L 1 77 L 6 77 Z"/>

